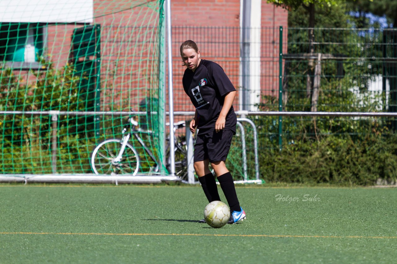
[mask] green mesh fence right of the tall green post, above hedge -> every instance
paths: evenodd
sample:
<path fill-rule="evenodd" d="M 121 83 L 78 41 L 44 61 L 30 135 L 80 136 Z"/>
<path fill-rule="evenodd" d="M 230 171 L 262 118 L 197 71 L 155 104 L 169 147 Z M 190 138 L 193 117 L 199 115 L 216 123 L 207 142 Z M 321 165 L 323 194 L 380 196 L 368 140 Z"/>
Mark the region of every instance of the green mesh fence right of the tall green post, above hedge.
<path fill-rule="evenodd" d="M 283 39 L 283 111 L 396 112 L 397 30 L 285 28 Z M 274 99 L 264 97 L 261 110 L 278 109 Z M 395 117 L 288 117 L 282 134 L 288 146 L 330 136 L 360 142 L 396 128 Z"/>

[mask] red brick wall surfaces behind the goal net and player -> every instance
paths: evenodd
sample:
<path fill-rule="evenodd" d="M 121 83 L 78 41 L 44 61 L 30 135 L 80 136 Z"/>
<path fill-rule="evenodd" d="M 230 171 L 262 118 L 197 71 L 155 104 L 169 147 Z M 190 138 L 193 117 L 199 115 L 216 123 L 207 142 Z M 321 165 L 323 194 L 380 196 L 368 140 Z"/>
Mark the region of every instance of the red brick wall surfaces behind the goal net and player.
<path fill-rule="evenodd" d="M 120 100 L 129 101 L 128 106 L 120 110 L 138 110 L 137 104 L 146 97 L 146 92 L 137 87 L 148 85 L 147 78 L 150 67 L 141 68 L 132 61 L 141 56 L 151 56 L 150 47 L 133 51 L 136 38 L 129 32 L 118 31 L 131 25 L 146 25 L 144 14 L 146 7 L 135 10 L 112 13 L 115 9 L 122 10 L 131 4 L 120 0 L 94 1 L 94 23 L 104 27 L 114 25 L 112 32 L 102 33 L 101 49 L 101 87 L 102 103 L 107 105 L 102 110 L 111 110 L 110 105 Z M 138 9 L 139 9 L 138 8 Z M 240 0 L 173 0 L 171 4 L 173 26 L 173 87 L 176 111 L 193 111 L 189 99 L 185 95 L 181 78 L 185 67 L 179 55 L 179 45 L 187 39 L 195 40 L 200 48 L 202 58 L 219 63 L 238 89 L 240 74 Z M 108 15 L 103 15 L 108 13 Z M 287 26 L 287 11 L 276 8 L 262 1 L 261 31 L 261 70 L 260 87 L 262 94 L 278 96 L 278 34 L 279 25 Z M 73 29 L 81 24 L 49 25 L 48 50 L 52 61 L 57 67 L 67 63 Z M 127 38 L 127 39 L 125 39 Z M 285 40 L 284 40 L 285 41 Z M 108 55 L 106 55 L 108 54 Z M 156 65 L 154 65 L 156 66 Z M 167 80 L 166 80 L 167 82 Z M 154 84 L 156 85 L 156 84 Z M 105 89 L 104 89 L 105 88 Z M 155 87 L 152 87 L 155 88 Z M 111 89 L 111 90 L 110 90 Z M 132 91 L 126 93 L 126 91 Z M 238 98 L 235 101 L 237 107 Z M 132 106 L 132 107 L 131 107 Z M 167 109 L 168 110 L 168 109 Z"/>

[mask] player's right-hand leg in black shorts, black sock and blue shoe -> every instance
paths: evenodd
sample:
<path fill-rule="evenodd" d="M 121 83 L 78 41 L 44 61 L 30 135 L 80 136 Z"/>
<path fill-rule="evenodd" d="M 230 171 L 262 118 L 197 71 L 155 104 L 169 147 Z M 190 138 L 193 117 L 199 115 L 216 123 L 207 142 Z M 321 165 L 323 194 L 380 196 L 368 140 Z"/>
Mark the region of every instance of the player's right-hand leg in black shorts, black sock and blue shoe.
<path fill-rule="evenodd" d="M 245 218 L 245 211 L 240 207 L 239 199 L 237 198 L 233 177 L 225 165 L 232 137 L 232 131 L 220 131 L 214 133 L 212 139 L 207 144 L 212 169 L 214 169 L 230 207 L 231 215 L 229 224 L 234 224 Z"/>

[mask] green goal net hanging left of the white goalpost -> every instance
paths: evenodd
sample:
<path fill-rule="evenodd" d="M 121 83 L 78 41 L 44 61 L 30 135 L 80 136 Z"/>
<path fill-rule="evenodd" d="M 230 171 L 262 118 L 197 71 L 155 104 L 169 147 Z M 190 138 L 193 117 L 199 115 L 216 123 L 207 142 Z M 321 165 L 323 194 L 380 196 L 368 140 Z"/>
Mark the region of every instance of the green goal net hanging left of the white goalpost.
<path fill-rule="evenodd" d="M 93 173 L 93 149 L 129 118 L 153 131 L 137 133 L 163 160 L 163 1 L 29 2 L 0 11 L 0 174 Z M 139 173 L 152 172 L 129 144 Z"/>

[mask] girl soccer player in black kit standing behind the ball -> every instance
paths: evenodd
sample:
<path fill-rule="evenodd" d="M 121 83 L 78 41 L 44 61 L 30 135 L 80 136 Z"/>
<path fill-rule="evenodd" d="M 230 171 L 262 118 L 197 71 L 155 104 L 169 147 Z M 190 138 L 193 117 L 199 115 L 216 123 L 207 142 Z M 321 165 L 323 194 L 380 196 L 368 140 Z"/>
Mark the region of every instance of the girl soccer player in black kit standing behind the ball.
<path fill-rule="evenodd" d="M 198 133 L 195 143 L 194 168 L 209 202 L 220 201 L 211 164 L 230 207 L 228 224 L 245 218 L 234 187 L 233 177 L 225 166 L 231 139 L 236 133 L 237 117 L 233 109 L 236 89 L 220 65 L 200 59 L 197 44 L 187 40 L 180 47 L 187 67 L 182 83 L 185 93 L 196 108 L 190 131 Z M 205 223 L 204 220 L 198 222 Z"/>

